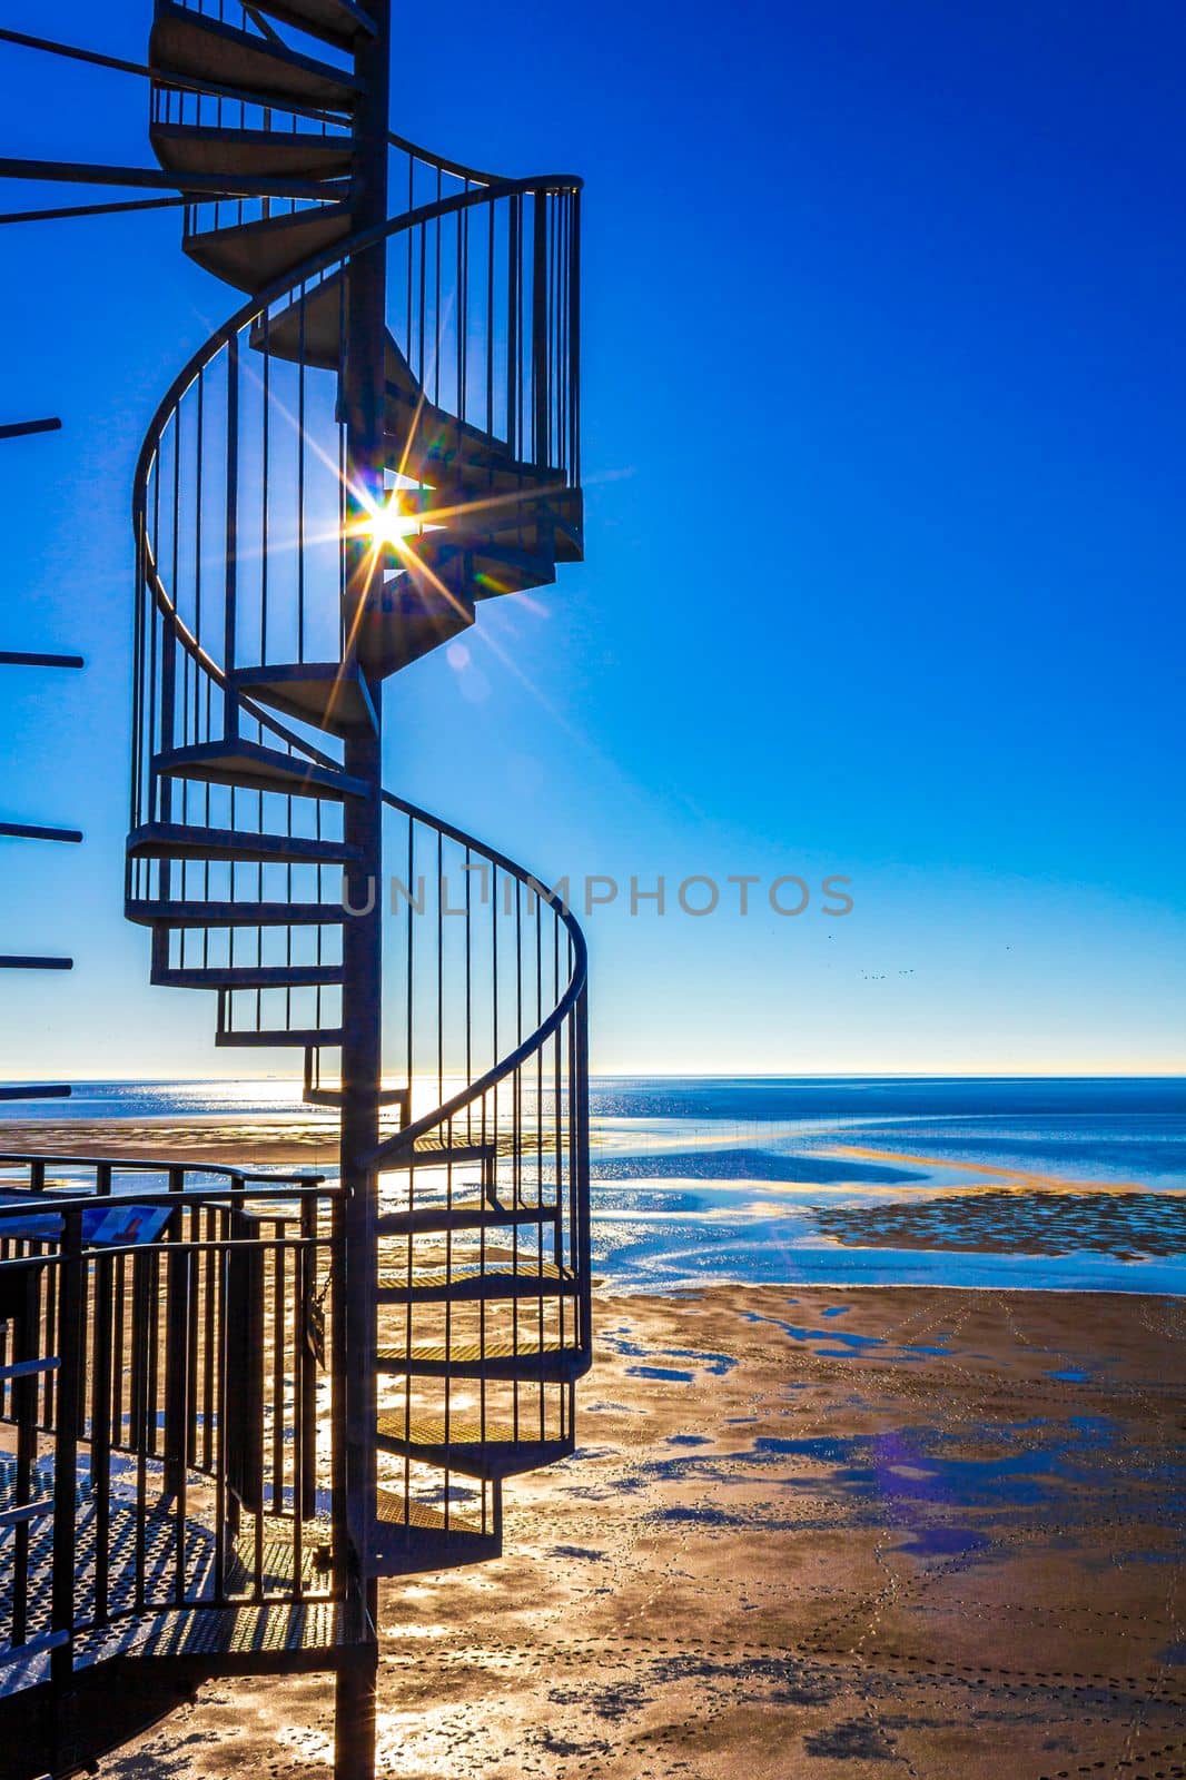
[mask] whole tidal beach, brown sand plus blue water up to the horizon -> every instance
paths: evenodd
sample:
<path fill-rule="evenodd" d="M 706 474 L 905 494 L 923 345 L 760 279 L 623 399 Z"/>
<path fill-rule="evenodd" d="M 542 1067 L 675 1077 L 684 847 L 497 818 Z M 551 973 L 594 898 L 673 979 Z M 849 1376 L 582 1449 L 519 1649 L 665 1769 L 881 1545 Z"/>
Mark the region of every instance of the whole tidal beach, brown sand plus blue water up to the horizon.
<path fill-rule="evenodd" d="M 595 1096 L 577 1452 L 502 1558 L 381 1584 L 379 1773 L 1184 1776 L 1181 1114 L 773 1111 Z M 78 1112 L 0 1150 L 333 1171 L 248 1091 Z M 210 1682 L 105 1771 L 328 1780 L 331 1718 Z"/>

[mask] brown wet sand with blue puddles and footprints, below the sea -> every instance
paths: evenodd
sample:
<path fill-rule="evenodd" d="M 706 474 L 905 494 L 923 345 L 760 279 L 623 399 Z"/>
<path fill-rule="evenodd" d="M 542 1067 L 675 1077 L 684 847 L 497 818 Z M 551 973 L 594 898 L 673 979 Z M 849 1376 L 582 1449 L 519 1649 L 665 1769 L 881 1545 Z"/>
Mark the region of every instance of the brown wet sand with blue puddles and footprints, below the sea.
<path fill-rule="evenodd" d="M 379 1771 L 1186 1775 L 1186 1299 L 600 1294 L 581 1449 L 497 1563 L 383 1586 Z M 328 1780 L 326 1679 L 123 1780 Z"/>

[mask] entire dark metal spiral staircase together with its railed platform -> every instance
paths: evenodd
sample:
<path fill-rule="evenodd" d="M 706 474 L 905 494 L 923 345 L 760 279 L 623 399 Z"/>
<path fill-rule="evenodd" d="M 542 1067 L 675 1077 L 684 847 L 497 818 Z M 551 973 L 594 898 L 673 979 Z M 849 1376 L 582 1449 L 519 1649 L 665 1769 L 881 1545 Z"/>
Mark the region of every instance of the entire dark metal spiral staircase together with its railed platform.
<path fill-rule="evenodd" d="M 499 1554 L 591 1358 L 584 938 L 381 780 L 397 676 L 582 555 L 581 182 L 394 135 L 390 0 L 0 41 L 150 82 L 160 164 L 0 176 L 171 194 L 0 222 L 182 205 L 246 294 L 135 470 L 125 911 L 340 1121 L 338 1182 L 0 1155 L 0 1741 L 68 1775 L 322 1668 L 369 1780 L 378 1579 Z"/>

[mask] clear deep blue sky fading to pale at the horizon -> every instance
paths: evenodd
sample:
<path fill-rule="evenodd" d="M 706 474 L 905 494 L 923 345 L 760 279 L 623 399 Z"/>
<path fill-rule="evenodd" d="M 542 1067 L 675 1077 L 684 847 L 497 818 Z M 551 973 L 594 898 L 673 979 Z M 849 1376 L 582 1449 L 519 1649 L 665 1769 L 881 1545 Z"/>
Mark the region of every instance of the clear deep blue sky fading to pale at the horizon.
<path fill-rule="evenodd" d="M 150 5 L 5 20 L 139 57 Z M 397 128 L 588 180 L 589 525 L 401 676 L 388 783 L 541 876 L 853 881 L 595 915 L 595 1066 L 1184 1066 L 1181 5 L 459 0 L 401 44 Z M 139 82 L 0 68 L 5 153 L 148 162 Z M 2 447 L 4 639 L 91 660 L 4 680 L 4 806 L 87 846 L 0 842 L 5 949 L 78 958 L 4 983 L 0 1077 L 224 1064 L 121 920 L 132 466 L 235 301 L 178 239 L 0 231 L 4 418 L 66 422 Z"/>

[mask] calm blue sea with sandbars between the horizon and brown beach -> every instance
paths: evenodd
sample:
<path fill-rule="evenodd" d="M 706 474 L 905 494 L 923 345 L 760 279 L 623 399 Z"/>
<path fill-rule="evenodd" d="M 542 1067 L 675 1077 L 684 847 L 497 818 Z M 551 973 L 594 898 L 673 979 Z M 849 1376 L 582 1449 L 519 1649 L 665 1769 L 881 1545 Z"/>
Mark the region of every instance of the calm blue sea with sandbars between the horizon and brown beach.
<path fill-rule="evenodd" d="M 251 1118 L 292 1082 L 80 1082 L 9 1118 Z M 864 1152 L 876 1152 L 874 1155 Z M 600 1077 L 593 1246 L 712 1280 L 1186 1290 L 1186 1080 Z"/>

